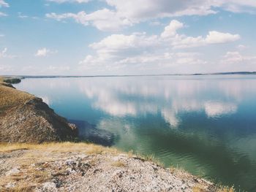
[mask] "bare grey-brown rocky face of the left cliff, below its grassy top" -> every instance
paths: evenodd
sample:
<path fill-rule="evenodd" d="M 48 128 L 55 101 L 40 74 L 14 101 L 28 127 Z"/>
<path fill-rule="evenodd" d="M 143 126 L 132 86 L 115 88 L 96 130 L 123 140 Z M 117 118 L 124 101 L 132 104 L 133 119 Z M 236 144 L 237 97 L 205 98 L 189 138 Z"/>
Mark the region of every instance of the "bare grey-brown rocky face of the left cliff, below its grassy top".
<path fill-rule="evenodd" d="M 78 129 L 61 118 L 42 99 L 25 101 L 0 118 L 0 142 L 42 143 L 72 141 Z"/>

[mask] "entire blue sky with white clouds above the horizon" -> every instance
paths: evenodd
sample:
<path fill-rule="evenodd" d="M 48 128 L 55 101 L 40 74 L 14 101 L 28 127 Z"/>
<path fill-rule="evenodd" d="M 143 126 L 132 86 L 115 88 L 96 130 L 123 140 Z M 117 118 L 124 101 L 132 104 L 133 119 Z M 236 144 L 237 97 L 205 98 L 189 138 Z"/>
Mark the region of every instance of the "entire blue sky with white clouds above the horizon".
<path fill-rule="evenodd" d="M 0 0 L 0 74 L 256 71 L 256 0 Z"/>

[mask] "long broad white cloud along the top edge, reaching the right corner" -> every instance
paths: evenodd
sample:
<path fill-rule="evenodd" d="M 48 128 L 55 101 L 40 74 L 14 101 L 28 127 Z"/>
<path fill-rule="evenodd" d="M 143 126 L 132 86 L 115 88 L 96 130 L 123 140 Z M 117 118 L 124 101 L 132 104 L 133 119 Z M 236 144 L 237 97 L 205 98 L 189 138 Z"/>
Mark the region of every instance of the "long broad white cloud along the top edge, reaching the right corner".
<path fill-rule="evenodd" d="M 87 0 L 48 0 L 63 2 L 87 2 Z M 155 20 L 158 18 L 171 18 L 173 16 L 183 15 L 208 15 L 216 14 L 217 8 L 225 9 L 230 12 L 255 12 L 256 4 L 254 0 L 241 1 L 241 0 L 183 0 L 183 1 L 170 1 L 170 0 L 105 0 L 110 8 L 99 9 L 95 12 L 86 14 L 86 12 L 78 13 L 48 13 L 48 18 L 56 20 L 64 20 L 73 18 L 77 23 L 83 25 L 95 26 L 102 31 L 117 31 L 121 28 L 132 26 L 135 23 L 140 23 L 146 20 Z M 138 6 L 145 5 L 145 6 Z M 156 23 L 157 20 L 154 22 Z M 175 24 L 181 23 L 173 23 Z M 159 25 L 159 22 L 157 22 Z M 171 26 L 169 26 L 171 27 Z M 174 26 L 181 28 L 182 26 Z M 169 28 L 167 31 L 175 32 L 172 30 L 178 28 Z M 167 32 L 166 31 L 166 32 Z M 164 37 L 167 34 L 162 34 Z M 170 34 L 171 35 L 171 34 Z M 212 34 L 214 35 L 214 34 Z M 216 34 L 218 35 L 218 34 Z M 213 39 L 211 39 L 213 40 Z"/>

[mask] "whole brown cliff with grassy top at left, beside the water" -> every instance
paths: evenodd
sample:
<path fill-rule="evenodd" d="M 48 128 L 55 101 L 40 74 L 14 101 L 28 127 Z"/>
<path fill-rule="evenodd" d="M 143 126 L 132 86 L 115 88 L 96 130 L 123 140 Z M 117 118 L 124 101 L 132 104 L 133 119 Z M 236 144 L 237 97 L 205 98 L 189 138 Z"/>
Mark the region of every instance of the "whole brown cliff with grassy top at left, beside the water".
<path fill-rule="evenodd" d="M 0 142 L 42 143 L 70 141 L 78 135 L 75 125 L 29 93 L 0 81 Z"/>

